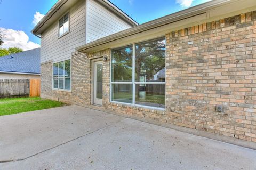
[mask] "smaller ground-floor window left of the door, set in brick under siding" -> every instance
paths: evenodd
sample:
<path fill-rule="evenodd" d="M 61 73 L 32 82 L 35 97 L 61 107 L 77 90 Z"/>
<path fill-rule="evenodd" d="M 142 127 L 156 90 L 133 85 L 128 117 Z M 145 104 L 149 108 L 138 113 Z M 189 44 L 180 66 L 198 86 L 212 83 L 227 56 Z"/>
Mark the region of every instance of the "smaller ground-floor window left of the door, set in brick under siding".
<path fill-rule="evenodd" d="M 71 68 L 70 60 L 53 64 L 53 88 L 60 90 L 70 90 L 71 88 Z"/>

